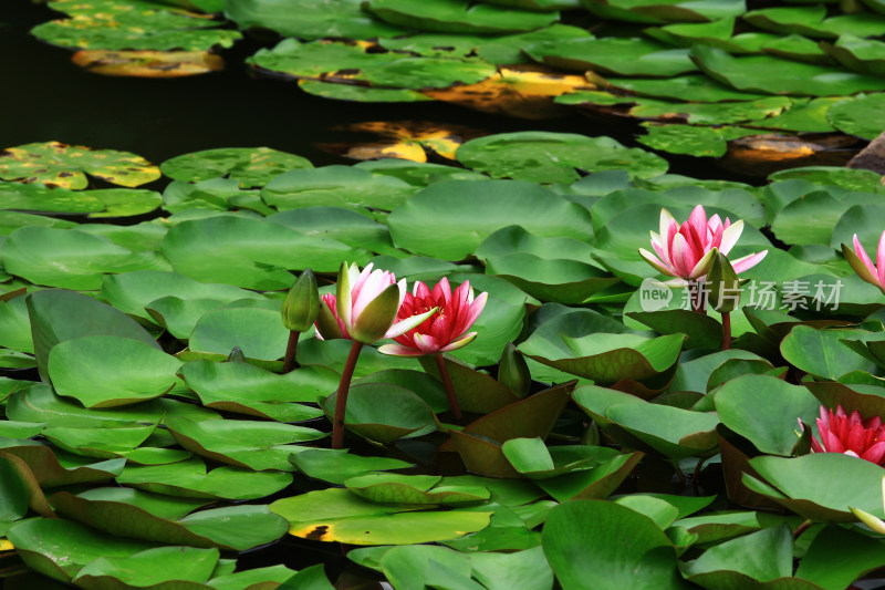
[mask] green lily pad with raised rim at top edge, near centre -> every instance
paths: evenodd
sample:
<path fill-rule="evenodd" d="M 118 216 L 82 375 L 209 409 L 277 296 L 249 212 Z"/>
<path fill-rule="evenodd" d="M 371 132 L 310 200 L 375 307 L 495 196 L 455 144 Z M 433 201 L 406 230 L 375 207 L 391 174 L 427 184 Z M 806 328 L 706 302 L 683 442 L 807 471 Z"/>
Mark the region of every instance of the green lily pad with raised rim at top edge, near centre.
<path fill-rule="evenodd" d="M 457 0 L 371 0 L 364 4 L 382 21 L 419 31 L 444 33 L 516 33 L 532 31 L 559 20 L 556 12 L 533 12 L 489 4 L 466 7 Z"/>

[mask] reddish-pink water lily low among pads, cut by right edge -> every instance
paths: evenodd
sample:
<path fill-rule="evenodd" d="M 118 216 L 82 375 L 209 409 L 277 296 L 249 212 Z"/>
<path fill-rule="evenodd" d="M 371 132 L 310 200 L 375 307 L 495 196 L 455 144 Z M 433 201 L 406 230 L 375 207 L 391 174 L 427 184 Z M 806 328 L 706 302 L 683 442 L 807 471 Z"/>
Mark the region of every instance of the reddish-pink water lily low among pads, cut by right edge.
<path fill-rule="evenodd" d="M 811 439 L 814 453 L 844 453 L 876 465 L 885 462 L 885 426 L 878 416 L 864 421 L 856 410 L 851 415 L 845 414 L 842 404 L 839 404 L 835 414 L 821 406 L 818 432 L 821 433 L 821 442 Z"/>

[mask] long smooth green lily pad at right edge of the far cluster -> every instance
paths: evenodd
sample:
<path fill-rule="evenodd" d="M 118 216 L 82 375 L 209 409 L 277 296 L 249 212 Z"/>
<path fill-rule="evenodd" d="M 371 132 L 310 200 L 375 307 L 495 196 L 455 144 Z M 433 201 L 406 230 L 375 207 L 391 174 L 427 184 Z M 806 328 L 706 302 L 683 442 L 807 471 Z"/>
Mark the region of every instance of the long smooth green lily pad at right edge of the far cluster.
<path fill-rule="evenodd" d="M 881 77 L 770 55 L 732 58 L 722 50 L 697 45 L 691 49 L 691 56 L 707 75 L 742 91 L 832 96 L 885 90 Z"/>

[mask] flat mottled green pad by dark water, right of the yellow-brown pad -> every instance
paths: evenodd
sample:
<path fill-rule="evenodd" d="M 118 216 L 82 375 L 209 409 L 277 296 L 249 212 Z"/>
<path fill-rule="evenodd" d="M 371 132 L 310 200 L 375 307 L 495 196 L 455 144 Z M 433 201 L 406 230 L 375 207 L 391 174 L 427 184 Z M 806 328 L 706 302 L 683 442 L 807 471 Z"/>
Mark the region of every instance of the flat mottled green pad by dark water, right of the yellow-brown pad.
<path fill-rule="evenodd" d="M 269 147 L 227 147 L 183 154 L 167 159 L 159 169 L 169 178 L 186 183 L 225 176 L 250 188 L 264 186 L 284 172 L 312 167 L 301 156 Z"/>

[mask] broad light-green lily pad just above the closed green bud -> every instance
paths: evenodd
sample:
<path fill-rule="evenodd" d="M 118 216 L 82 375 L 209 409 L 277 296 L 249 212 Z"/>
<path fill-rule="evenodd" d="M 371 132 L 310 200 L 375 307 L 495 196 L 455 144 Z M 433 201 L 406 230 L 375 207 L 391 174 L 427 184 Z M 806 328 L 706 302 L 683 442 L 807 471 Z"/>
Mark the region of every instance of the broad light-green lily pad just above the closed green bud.
<path fill-rule="evenodd" d="M 163 253 L 176 272 L 198 281 L 270 290 L 292 286 L 288 270 L 332 272 L 344 260 L 365 262 L 369 257 L 340 241 L 238 217 L 178 224 L 163 240 Z"/>

